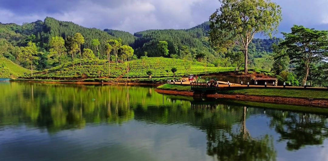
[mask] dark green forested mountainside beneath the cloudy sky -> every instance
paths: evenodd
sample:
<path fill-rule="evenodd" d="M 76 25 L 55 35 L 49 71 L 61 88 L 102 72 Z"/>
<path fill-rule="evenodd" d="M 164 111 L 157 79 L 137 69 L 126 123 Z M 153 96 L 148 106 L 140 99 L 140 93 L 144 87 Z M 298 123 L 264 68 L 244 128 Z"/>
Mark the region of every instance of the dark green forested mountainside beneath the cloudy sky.
<path fill-rule="evenodd" d="M 18 54 L 22 48 L 27 46 L 28 42 L 33 42 L 38 48 L 38 60 L 35 60 L 34 67 L 36 70 L 43 70 L 58 65 L 58 56 L 49 52 L 49 40 L 54 36 L 60 36 L 64 40 L 74 36 L 79 32 L 83 35 L 85 43 L 81 44 L 81 50 L 84 48 L 91 49 L 96 53 L 99 48 L 100 59 L 105 59 L 105 44 L 110 39 L 122 39 L 122 44 L 130 45 L 134 49 L 134 54 L 139 58 L 148 53 L 148 57 L 175 57 L 181 58 L 185 55 L 189 56 L 189 60 L 206 57 L 209 63 L 216 66 L 236 66 L 240 50 L 238 44 L 228 50 L 226 53 L 217 53 L 210 47 L 208 42 L 209 22 L 204 22 L 191 29 L 167 29 L 167 30 L 146 30 L 133 34 L 119 30 L 99 30 L 95 28 L 84 28 L 72 22 L 58 21 L 54 18 L 47 17 L 44 21 L 37 20 L 32 23 L 16 24 L 0 24 L 0 56 L 15 62 L 16 64 L 30 68 L 24 61 L 18 60 Z M 98 39 L 100 45 L 92 45 L 92 39 Z M 168 55 L 162 55 L 157 47 L 159 41 L 167 41 Z M 279 39 L 254 39 L 249 46 L 249 57 L 251 60 L 262 58 L 272 52 L 272 43 L 277 43 Z M 65 54 L 66 55 L 66 54 Z M 62 58 L 63 61 L 68 59 L 69 55 Z M 218 60 L 228 57 L 227 61 Z M 238 59 L 238 60 L 237 60 Z M 255 61 L 251 61 L 253 63 Z M 255 64 L 253 63 L 253 66 Z M 261 68 L 261 67 L 258 67 Z"/>

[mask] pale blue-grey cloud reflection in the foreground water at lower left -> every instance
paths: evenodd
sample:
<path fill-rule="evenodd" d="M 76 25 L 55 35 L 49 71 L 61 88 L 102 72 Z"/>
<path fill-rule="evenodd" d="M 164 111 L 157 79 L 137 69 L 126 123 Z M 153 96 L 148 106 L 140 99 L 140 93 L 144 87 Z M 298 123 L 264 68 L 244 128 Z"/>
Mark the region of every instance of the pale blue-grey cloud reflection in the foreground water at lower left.
<path fill-rule="evenodd" d="M 143 130 L 140 130 L 140 129 Z M 80 130 L 64 130 L 48 135 L 47 132 L 25 128 L 11 129 L 14 133 L 25 133 L 10 137 L 7 135 L 0 157 L 11 156 L 14 160 L 35 158 L 46 160 L 213 160 L 206 155 L 206 134 L 185 125 L 145 124 L 138 121 L 124 126 L 91 126 Z M 38 131 L 38 132 L 36 132 Z M 1 137 L 0 137 L 1 138 Z M 25 145 L 12 144 L 19 141 Z M 51 145 L 51 146 L 50 146 Z M 18 148 L 18 149 L 17 149 Z M 14 152 L 20 153 L 15 156 Z M 47 154 L 38 156 L 39 152 Z"/>

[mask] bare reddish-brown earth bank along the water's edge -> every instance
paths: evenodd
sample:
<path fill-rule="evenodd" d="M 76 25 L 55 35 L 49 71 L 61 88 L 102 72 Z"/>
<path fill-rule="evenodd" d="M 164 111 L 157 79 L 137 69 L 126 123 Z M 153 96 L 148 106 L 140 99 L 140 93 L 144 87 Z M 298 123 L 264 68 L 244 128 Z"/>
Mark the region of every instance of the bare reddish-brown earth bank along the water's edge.
<path fill-rule="evenodd" d="M 194 95 L 194 93 L 191 91 L 173 91 L 173 90 L 158 90 L 158 89 L 155 89 L 155 91 L 158 93 L 165 93 L 165 94 L 177 94 L 177 95 L 188 95 L 188 96 Z M 210 98 L 228 98 L 228 99 L 236 99 L 236 100 L 244 100 L 244 101 L 328 108 L 327 99 L 309 99 L 309 98 L 279 97 L 279 96 L 275 96 L 275 97 L 255 96 L 255 95 L 243 95 L 243 94 L 207 94 L 205 96 Z"/>

